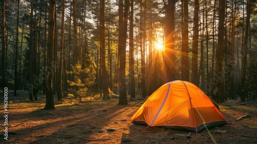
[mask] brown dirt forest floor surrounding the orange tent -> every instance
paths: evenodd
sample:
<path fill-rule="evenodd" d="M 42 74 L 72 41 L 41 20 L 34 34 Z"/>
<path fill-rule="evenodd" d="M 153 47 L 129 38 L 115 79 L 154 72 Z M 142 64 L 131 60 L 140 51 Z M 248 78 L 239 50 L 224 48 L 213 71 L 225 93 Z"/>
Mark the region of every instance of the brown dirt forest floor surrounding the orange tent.
<path fill-rule="evenodd" d="M 29 102 L 28 92 L 8 96 L 8 140 L 4 139 L 4 109 L 1 108 L 0 143 L 257 143 L 257 103 L 240 103 L 229 100 L 220 106 L 229 125 L 221 128 L 192 132 L 170 128 L 135 125 L 129 119 L 139 108 L 142 100 L 128 100 L 118 105 L 118 99 L 103 101 L 95 96 L 90 99 L 65 98 L 56 102 L 55 110 L 44 111 L 45 96 Z M 4 107 L 3 94 L 0 106 Z M 55 99 L 56 101 L 56 99 Z M 228 106 L 229 105 L 229 106 Z M 235 119 L 249 114 L 242 121 Z M 107 129 L 112 128 L 110 131 Z M 142 132 L 144 131 L 144 132 Z M 215 142 L 214 142 L 215 141 Z"/>

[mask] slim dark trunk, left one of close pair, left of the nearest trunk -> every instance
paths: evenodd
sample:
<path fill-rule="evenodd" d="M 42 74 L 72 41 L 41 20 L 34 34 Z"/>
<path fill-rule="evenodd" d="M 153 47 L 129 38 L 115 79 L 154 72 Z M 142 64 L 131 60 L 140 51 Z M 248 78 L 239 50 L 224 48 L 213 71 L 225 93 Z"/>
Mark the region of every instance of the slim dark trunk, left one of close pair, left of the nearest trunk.
<path fill-rule="evenodd" d="M 29 83 L 27 87 L 29 89 L 29 100 L 33 101 L 33 58 L 34 58 L 34 48 L 33 48 L 33 0 L 30 2 L 30 34 L 29 34 Z"/>

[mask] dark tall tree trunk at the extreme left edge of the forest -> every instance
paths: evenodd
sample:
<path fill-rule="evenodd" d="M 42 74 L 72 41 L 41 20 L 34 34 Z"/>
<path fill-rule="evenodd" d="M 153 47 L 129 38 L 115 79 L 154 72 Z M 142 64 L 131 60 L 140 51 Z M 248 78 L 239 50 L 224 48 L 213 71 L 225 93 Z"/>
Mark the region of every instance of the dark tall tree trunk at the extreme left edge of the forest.
<path fill-rule="evenodd" d="M 5 87 L 7 87 L 6 83 L 6 15 L 5 15 L 5 0 L 1 0 L 2 4 L 2 73 L 3 73 L 3 93 Z"/>

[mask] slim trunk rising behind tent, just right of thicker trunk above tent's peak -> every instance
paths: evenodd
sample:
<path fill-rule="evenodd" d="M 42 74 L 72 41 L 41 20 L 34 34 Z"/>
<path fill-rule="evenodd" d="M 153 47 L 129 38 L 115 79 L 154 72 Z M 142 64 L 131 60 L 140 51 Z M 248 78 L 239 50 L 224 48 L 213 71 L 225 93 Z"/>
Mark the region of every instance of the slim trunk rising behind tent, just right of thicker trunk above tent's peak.
<path fill-rule="evenodd" d="M 193 58 L 192 58 L 192 76 L 191 82 L 199 85 L 198 79 L 198 41 L 199 41 L 199 2 L 194 3 L 194 28 L 193 28 Z"/>

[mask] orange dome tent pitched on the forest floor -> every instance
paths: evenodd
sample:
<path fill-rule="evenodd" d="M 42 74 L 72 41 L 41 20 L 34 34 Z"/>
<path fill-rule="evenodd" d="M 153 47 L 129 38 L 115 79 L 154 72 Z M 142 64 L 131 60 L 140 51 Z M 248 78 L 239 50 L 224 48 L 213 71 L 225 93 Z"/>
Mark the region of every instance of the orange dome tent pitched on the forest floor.
<path fill-rule="evenodd" d="M 131 117 L 133 123 L 200 131 L 227 124 L 210 98 L 187 81 L 163 84 Z"/>

